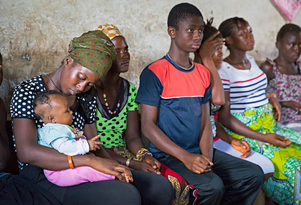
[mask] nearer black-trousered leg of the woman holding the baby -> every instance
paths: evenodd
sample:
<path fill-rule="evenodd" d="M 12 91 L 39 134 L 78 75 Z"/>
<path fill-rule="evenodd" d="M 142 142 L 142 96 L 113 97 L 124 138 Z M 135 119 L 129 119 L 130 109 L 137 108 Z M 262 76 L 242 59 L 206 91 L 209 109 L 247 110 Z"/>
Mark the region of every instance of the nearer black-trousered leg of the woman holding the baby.
<path fill-rule="evenodd" d="M 65 204 L 141 204 L 138 190 L 130 183 L 119 180 L 86 182 L 60 187 L 47 178 L 38 183 Z M 118 194 L 116 194 L 118 193 Z"/>

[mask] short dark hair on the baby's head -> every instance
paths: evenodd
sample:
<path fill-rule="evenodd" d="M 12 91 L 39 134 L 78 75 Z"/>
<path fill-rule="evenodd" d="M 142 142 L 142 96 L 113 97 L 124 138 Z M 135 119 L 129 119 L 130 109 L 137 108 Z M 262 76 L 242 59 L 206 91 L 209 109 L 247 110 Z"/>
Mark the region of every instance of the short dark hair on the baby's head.
<path fill-rule="evenodd" d="M 49 98 L 49 96 L 51 95 L 61 95 L 61 96 L 64 96 L 63 94 L 59 93 L 58 91 L 56 90 L 46 90 L 46 91 L 42 91 L 42 92 L 39 92 L 36 94 L 34 100 L 33 100 L 33 110 L 35 112 L 35 116 L 36 118 L 38 119 L 42 119 L 44 118 L 44 115 L 45 115 L 45 112 L 39 112 L 37 113 L 36 112 L 36 108 L 39 106 L 39 105 L 45 105 L 47 104 L 48 106 L 48 109 L 51 110 L 52 109 L 52 105 L 51 105 L 51 100 Z"/>

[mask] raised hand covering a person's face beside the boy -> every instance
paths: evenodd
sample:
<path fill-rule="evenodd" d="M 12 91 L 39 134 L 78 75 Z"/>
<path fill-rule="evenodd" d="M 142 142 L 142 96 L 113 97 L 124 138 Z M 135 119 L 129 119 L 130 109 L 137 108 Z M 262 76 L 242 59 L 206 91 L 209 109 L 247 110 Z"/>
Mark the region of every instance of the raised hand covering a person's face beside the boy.
<path fill-rule="evenodd" d="M 213 54 L 221 48 L 225 44 L 225 38 L 216 38 L 219 35 L 219 31 L 211 35 L 200 47 L 200 57 L 204 58 L 212 58 Z"/>

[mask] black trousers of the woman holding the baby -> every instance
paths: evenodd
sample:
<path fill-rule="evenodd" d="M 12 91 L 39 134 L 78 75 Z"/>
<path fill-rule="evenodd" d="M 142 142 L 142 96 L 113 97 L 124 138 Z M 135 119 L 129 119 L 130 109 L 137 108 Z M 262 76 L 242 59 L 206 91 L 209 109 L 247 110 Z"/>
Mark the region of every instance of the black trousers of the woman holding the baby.
<path fill-rule="evenodd" d="M 173 187 L 168 179 L 148 172 L 135 170 L 131 172 L 134 180 L 131 183 L 104 180 L 60 187 L 49 182 L 43 170 L 38 167 L 28 165 L 20 170 L 22 176 L 30 178 L 48 190 L 63 205 L 170 205 L 173 198 Z"/>

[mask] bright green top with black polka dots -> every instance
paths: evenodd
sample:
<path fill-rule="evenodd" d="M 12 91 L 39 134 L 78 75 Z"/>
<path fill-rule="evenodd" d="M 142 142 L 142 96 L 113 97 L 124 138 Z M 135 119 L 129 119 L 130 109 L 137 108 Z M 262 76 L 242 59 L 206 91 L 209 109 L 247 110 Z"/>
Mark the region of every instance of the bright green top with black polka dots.
<path fill-rule="evenodd" d="M 127 115 L 128 111 L 138 110 L 138 104 L 135 103 L 137 90 L 135 85 L 129 82 L 129 96 L 126 105 L 120 111 L 120 113 L 114 118 L 108 120 L 104 118 L 98 109 L 96 109 L 96 128 L 100 135 L 100 141 L 106 148 L 112 148 L 116 146 L 126 146 L 123 140 L 123 132 L 127 127 Z"/>

